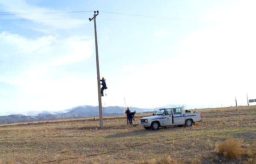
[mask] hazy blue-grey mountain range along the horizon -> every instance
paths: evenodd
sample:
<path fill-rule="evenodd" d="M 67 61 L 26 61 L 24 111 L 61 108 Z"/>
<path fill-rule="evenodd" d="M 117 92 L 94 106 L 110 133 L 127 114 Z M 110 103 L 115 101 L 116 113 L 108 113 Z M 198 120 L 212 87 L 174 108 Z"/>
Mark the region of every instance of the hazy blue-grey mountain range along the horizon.
<path fill-rule="evenodd" d="M 165 105 L 159 106 L 155 108 L 155 110 L 164 108 L 164 107 L 173 107 L 173 106 L 183 106 L 183 105 Z M 192 107 L 192 106 L 191 106 Z M 193 108 L 198 108 L 198 106 L 193 106 Z M 193 109 L 192 108 L 192 109 Z M 137 113 L 146 113 L 146 112 L 153 112 L 154 109 L 150 108 L 135 108 L 129 107 L 131 112 L 134 110 Z M 186 108 L 188 109 L 188 108 Z M 36 111 L 29 111 L 28 114 L 12 114 L 9 116 L 0 116 L 0 124 L 12 124 L 12 123 L 22 123 L 22 122 L 33 122 L 33 121 L 47 121 L 47 120 L 59 120 L 59 119 L 68 119 L 68 118 L 86 118 L 86 117 L 98 117 L 99 116 L 99 107 L 98 106 L 90 106 L 90 105 L 83 105 L 83 106 L 76 106 L 71 109 L 65 109 L 62 111 L 42 111 L 41 113 L 36 113 Z M 116 116 L 122 115 L 125 113 L 124 107 L 119 106 L 108 106 L 102 108 L 102 115 L 103 116 Z"/>

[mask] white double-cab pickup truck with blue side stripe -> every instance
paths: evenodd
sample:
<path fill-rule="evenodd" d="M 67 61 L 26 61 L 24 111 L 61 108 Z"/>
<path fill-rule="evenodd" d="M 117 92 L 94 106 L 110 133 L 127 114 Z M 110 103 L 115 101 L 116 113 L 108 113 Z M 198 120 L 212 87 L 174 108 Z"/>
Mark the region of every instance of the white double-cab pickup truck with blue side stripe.
<path fill-rule="evenodd" d="M 140 118 L 140 125 L 145 129 L 158 130 L 159 127 L 186 125 L 203 121 L 201 112 L 188 112 L 183 107 L 162 108 L 154 116 Z"/>

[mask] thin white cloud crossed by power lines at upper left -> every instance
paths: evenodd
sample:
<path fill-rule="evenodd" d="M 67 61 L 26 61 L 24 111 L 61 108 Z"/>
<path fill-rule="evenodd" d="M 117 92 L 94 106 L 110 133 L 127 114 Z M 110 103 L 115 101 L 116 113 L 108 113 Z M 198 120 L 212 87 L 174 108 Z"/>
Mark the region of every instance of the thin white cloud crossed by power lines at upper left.
<path fill-rule="evenodd" d="M 36 5 L 27 4 L 24 0 L 1 0 L 0 4 L 3 5 L 3 9 L 8 12 L 21 12 L 21 13 L 42 13 L 42 12 L 62 12 L 54 9 L 48 9 L 44 7 L 38 7 Z M 61 14 L 23 14 L 15 15 L 16 17 L 23 19 L 60 19 L 71 18 L 68 13 Z M 65 19 L 65 20 L 33 20 L 36 23 L 44 24 L 45 26 L 52 27 L 52 29 L 71 29 L 79 27 L 87 22 L 82 19 Z M 39 30 L 39 29 L 37 29 Z M 45 31 L 47 30 L 39 30 Z"/>

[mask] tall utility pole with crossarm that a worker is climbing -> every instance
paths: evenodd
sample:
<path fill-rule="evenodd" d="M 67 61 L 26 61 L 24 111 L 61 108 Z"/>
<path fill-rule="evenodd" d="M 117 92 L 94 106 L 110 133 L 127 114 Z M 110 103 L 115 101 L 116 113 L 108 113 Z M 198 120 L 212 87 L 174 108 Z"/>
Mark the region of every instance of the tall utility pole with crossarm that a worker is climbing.
<path fill-rule="evenodd" d="M 98 57 L 98 43 L 97 43 L 97 32 L 96 32 L 96 16 L 99 14 L 99 11 L 94 11 L 93 18 L 89 18 L 94 21 L 94 33 L 95 33 L 95 47 L 96 47 L 96 63 L 97 63 L 97 78 L 98 78 L 98 98 L 99 98 L 99 125 L 101 129 L 103 128 L 103 118 L 102 118 L 102 104 L 101 104 L 101 84 L 99 81 L 99 57 Z"/>

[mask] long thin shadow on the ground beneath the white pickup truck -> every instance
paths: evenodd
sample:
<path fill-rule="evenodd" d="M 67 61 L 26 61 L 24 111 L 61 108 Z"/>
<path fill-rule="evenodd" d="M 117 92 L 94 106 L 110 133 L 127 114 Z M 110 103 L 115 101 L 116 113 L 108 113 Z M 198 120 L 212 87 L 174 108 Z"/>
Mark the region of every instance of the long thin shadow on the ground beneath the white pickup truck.
<path fill-rule="evenodd" d="M 161 132 L 170 132 L 170 131 L 175 131 L 178 129 L 184 129 L 187 127 L 175 127 L 175 126 L 171 126 L 171 127 L 165 127 L 165 128 L 160 128 L 159 130 L 133 130 L 131 132 L 125 132 L 125 133 L 116 133 L 116 134 L 112 134 L 109 136 L 106 136 L 105 138 L 121 138 L 121 137 L 131 137 L 131 136 L 141 136 L 141 135 L 147 135 L 150 133 L 161 133 Z"/>

